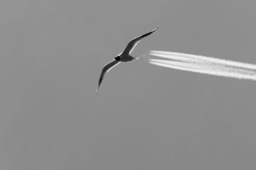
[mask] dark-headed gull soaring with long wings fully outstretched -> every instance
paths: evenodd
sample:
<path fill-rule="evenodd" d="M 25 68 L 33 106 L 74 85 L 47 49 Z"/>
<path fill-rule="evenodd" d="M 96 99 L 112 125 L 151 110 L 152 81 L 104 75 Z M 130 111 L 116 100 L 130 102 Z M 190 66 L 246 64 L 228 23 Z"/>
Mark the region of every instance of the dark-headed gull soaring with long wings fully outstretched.
<path fill-rule="evenodd" d="M 115 57 L 115 60 L 112 60 L 111 62 L 109 62 L 108 64 L 106 64 L 103 67 L 103 69 L 100 73 L 100 78 L 99 78 L 99 83 L 98 83 L 96 93 L 99 91 L 100 84 L 102 83 L 102 80 L 103 80 L 105 74 L 108 73 L 111 69 L 113 69 L 113 67 L 120 64 L 120 62 L 128 62 L 128 61 L 140 59 L 140 57 L 132 57 L 130 55 L 132 50 L 134 50 L 135 46 L 138 45 L 138 43 L 140 43 L 141 39 L 149 36 L 153 32 L 157 31 L 157 29 L 158 29 L 158 27 L 150 32 L 147 32 L 146 34 L 142 34 L 141 36 L 131 39 L 131 41 L 129 41 L 129 43 L 125 47 L 124 52 L 118 54 L 117 57 Z"/>

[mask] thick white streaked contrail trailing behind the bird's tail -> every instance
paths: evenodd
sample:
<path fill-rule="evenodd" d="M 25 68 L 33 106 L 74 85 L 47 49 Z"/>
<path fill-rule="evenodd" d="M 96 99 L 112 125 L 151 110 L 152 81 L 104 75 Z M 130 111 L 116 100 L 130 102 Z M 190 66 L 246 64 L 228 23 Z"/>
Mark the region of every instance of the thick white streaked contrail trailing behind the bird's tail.
<path fill-rule="evenodd" d="M 162 58 L 149 59 L 150 64 L 157 66 L 230 78 L 256 80 L 256 65 L 254 64 L 176 52 L 150 51 L 150 55 Z"/>

